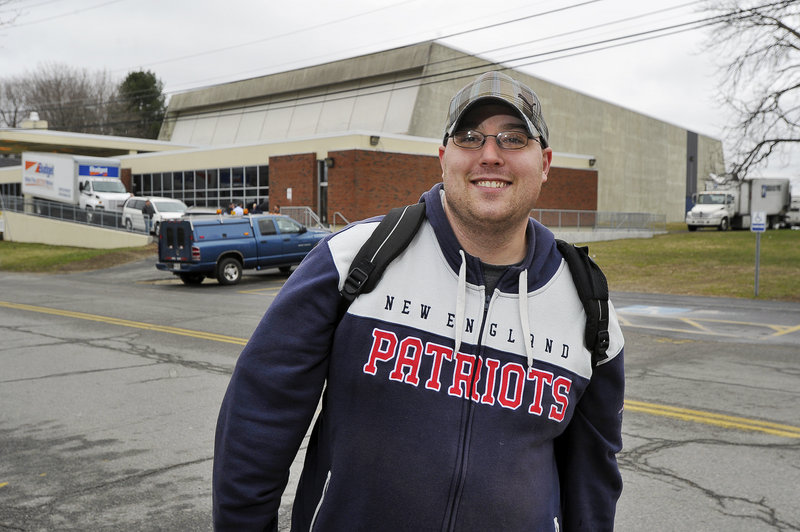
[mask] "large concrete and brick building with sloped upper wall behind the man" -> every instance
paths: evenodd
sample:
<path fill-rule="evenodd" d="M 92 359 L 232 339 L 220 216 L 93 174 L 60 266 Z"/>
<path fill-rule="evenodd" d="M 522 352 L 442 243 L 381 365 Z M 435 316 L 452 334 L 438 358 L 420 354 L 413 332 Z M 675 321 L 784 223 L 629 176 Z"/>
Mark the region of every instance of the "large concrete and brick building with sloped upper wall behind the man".
<path fill-rule="evenodd" d="M 542 102 L 554 158 L 540 208 L 682 221 L 686 198 L 724 172 L 717 139 L 435 42 L 173 95 L 159 151 L 115 156 L 139 194 L 208 206 L 268 196 L 353 221 L 441 179 L 449 100 L 487 70 L 509 71 Z"/>

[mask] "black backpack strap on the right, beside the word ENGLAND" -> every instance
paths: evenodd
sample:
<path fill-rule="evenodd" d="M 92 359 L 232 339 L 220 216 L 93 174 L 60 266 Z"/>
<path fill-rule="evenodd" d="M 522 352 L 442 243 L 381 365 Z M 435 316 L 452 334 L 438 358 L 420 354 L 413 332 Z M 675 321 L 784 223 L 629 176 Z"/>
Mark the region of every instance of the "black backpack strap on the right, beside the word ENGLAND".
<path fill-rule="evenodd" d="M 567 261 L 586 311 L 584 342 L 592 352 L 592 366 L 596 366 L 608 357 L 608 282 L 600 267 L 589 258 L 588 247 L 574 246 L 559 239 L 556 239 L 556 246 Z"/>

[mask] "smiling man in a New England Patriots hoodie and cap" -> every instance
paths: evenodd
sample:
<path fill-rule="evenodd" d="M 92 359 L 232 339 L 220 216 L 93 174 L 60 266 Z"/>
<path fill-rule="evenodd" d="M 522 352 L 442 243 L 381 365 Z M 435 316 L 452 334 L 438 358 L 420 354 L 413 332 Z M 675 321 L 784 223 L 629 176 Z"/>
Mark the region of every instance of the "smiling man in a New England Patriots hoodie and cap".
<path fill-rule="evenodd" d="M 552 159 L 539 100 L 490 72 L 453 98 L 443 184 L 372 292 L 343 286 L 377 221 L 323 241 L 242 352 L 214 461 L 218 530 L 611 530 L 622 335 L 592 367 L 553 235 L 529 218 Z M 324 394 L 323 394 L 324 389 Z"/>

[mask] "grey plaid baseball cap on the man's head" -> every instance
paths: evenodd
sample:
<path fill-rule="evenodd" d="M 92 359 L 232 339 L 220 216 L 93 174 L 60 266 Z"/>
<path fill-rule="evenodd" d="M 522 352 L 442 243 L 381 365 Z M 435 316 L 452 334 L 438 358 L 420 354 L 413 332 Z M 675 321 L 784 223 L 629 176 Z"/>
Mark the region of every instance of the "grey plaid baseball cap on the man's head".
<path fill-rule="evenodd" d="M 444 142 L 451 136 L 461 118 L 473 105 L 485 100 L 499 100 L 511 106 L 525 120 L 528 134 L 542 139 L 542 148 L 548 146 L 547 124 L 542 115 L 542 104 L 530 87 L 502 72 L 486 72 L 461 89 L 450 100 Z"/>

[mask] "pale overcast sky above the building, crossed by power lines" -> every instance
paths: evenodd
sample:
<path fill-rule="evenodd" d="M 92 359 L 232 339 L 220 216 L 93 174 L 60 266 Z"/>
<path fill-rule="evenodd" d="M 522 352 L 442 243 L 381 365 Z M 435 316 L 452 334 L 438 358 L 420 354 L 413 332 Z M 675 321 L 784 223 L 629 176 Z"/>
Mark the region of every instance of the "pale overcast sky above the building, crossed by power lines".
<path fill-rule="evenodd" d="M 731 124 L 709 29 L 687 25 L 706 17 L 697 1 L 8 1 L 0 21 L 16 19 L 0 27 L 0 77 L 48 62 L 116 80 L 144 69 L 174 94 L 441 39 L 721 140 Z M 800 164 L 765 172 L 797 176 Z"/>

